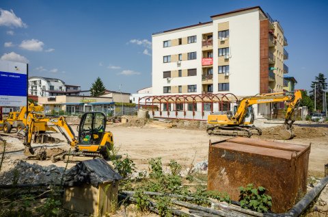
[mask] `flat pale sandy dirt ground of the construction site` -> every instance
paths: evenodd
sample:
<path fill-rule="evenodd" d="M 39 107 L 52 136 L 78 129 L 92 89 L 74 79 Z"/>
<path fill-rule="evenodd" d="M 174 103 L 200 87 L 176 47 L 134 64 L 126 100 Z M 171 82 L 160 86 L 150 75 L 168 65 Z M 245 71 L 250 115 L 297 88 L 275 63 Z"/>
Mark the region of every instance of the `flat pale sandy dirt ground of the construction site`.
<path fill-rule="evenodd" d="M 198 124 L 197 124 L 198 125 Z M 138 170 L 148 170 L 148 159 L 152 157 L 161 157 L 164 165 L 169 163 L 170 159 L 175 159 L 183 168 L 190 168 L 197 162 L 204 162 L 208 159 L 208 141 L 221 140 L 223 136 L 209 136 L 204 129 L 156 129 L 142 128 L 138 123 L 138 127 L 131 124 L 132 127 L 126 125 L 108 125 L 107 131 L 111 131 L 114 136 L 115 147 L 119 149 L 118 154 L 128 155 L 135 162 Z M 75 129 L 76 127 L 72 127 Z M 183 128 L 183 127 L 181 127 Z M 200 127 L 203 128 L 203 127 Z M 274 140 L 270 131 L 275 127 L 264 130 L 264 135 L 259 137 L 264 140 Z M 65 140 L 64 136 L 59 133 L 51 133 L 55 138 Z M 328 127 L 295 127 L 296 137 L 292 140 L 280 140 L 281 142 L 295 144 L 311 144 L 309 176 L 323 177 L 325 173 L 325 164 L 328 164 Z M 3 136 L 8 141 L 8 147 L 5 152 L 5 159 L 1 168 L 1 173 L 13 167 L 16 159 L 26 159 L 23 155 L 23 142 L 17 138 Z M 35 144 L 34 147 L 40 147 Z M 47 145 L 48 149 L 56 148 L 54 152 L 60 149 L 69 149 L 66 142 Z M 3 147 L 0 146 L 0 153 Z M 51 151 L 50 151 L 51 152 Z M 28 160 L 30 164 L 36 163 L 41 166 L 49 166 L 53 164 L 50 160 L 33 161 Z M 56 162 L 56 166 L 65 167 L 64 162 Z M 68 168 L 74 164 L 68 164 Z M 327 187 L 323 195 L 324 200 L 327 199 Z M 327 200 L 326 200 L 327 202 Z M 327 206 L 327 203 L 326 203 Z"/>

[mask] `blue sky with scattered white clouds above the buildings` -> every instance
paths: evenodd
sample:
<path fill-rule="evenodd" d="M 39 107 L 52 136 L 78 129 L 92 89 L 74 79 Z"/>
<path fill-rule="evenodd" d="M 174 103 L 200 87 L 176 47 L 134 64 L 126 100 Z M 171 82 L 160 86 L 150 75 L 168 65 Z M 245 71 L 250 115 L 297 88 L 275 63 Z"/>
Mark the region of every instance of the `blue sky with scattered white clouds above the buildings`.
<path fill-rule="evenodd" d="M 152 33 L 260 5 L 288 40 L 289 76 L 310 89 L 328 75 L 328 1 L 15 1 L 0 3 L 0 57 L 29 62 L 29 75 L 90 88 L 135 92 L 151 86 Z"/>

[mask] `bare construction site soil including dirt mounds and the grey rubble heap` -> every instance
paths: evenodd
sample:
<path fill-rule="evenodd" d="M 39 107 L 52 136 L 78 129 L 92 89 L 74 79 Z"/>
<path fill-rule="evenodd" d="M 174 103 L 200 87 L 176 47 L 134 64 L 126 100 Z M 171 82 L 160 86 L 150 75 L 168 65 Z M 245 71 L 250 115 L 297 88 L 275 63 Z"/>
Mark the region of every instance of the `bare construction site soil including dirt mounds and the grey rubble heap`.
<path fill-rule="evenodd" d="M 148 127 L 155 121 L 139 119 L 127 116 L 126 123 L 113 123 L 107 125 L 107 131 L 113 133 L 115 147 L 118 155 L 128 155 L 135 162 L 138 171 L 148 171 L 148 160 L 152 157 L 161 157 L 164 166 L 170 159 L 175 159 L 184 170 L 189 170 L 195 164 L 206 162 L 208 159 L 208 141 L 221 140 L 223 136 L 209 136 L 205 129 L 206 123 L 200 121 L 175 120 L 169 123 L 170 127 Z M 158 120 L 157 120 L 158 121 Z M 70 121 L 69 121 L 70 123 Z M 71 124 L 79 123 L 79 118 L 72 118 Z M 281 129 L 281 123 L 277 125 L 260 123 L 263 134 L 254 136 L 263 140 L 276 140 L 275 131 Z M 154 125 L 152 125 L 154 126 Z M 76 127 L 72 127 L 75 129 Z M 163 129 L 164 128 L 164 129 Z M 292 140 L 279 140 L 281 142 L 295 144 L 310 144 L 309 183 L 316 183 L 318 178 L 324 176 L 324 165 L 328 163 L 328 127 L 294 127 L 295 138 Z M 16 133 L 11 133 L 13 136 Z M 76 133 L 77 135 L 77 133 Z M 47 146 L 47 155 L 54 155 L 70 147 L 66 139 L 60 133 L 51 133 L 51 136 L 59 138 L 63 142 L 56 144 L 44 144 Z M 51 160 L 36 161 L 27 160 L 23 155 L 23 141 L 11 136 L 1 136 L 7 141 L 4 159 L 0 172 L 0 184 L 12 183 L 19 175 L 19 183 L 36 183 L 40 181 L 59 181 L 66 164 Z M 41 147 L 34 144 L 33 147 Z M 0 142 L 0 153 L 3 152 L 3 143 Z M 110 163 L 110 162 L 109 162 Z M 67 165 L 68 168 L 74 163 Z M 16 171 L 16 172 L 15 172 Z M 314 181 L 311 181 L 314 180 Z M 309 187 L 310 190 L 310 187 Z M 328 212 L 328 187 L 320 195 L 316 207 Z"/>

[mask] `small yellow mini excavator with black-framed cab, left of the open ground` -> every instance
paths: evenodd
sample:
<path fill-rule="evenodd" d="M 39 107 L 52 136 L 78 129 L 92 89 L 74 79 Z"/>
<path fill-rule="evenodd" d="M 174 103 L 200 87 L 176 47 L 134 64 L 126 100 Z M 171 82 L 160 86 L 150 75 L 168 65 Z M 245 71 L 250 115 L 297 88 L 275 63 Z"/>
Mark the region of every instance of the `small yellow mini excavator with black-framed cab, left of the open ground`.
<path fill-rule="evenodd" d="M 85 157 L 106 158 L 108 156 L 107 151 L 113 149 L 114 144 L 113 133 L 105 131 L 106 121 L 106 115 L 103 112 L 85 112 L 81 117 L 80 125 L 77 126 L 79 136 L 75 136 L 72 127 L 68 125 L 64 116 L 37 118 L 33 116 L 33 112 L 30 112 L 25 128 L 24 155 L 33 158 L 39 154 L 38 151 L 31 148 L 33 128 L 38 123 L 45 122 L 57 126 L 59 132 L 66 138 L 71 147 L 70 152 L 61 153 L 60 155 L 64 162 L 79 161 L 79 159 L 85 159 Z"/>

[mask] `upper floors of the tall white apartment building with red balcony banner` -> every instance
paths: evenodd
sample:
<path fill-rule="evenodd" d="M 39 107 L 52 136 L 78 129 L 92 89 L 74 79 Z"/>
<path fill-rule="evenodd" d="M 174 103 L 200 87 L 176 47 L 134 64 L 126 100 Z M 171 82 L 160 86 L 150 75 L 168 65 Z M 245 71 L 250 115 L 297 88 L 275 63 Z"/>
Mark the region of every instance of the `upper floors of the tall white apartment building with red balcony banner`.
<path fill-rule="evenodd" d="M 210 18 L 152 34 L 152 94 L 243 97 L 283 91 L 288 52 L 279 21 L 259 6 Z M 263 114 L 270 106 L 254 108 Z"/>

